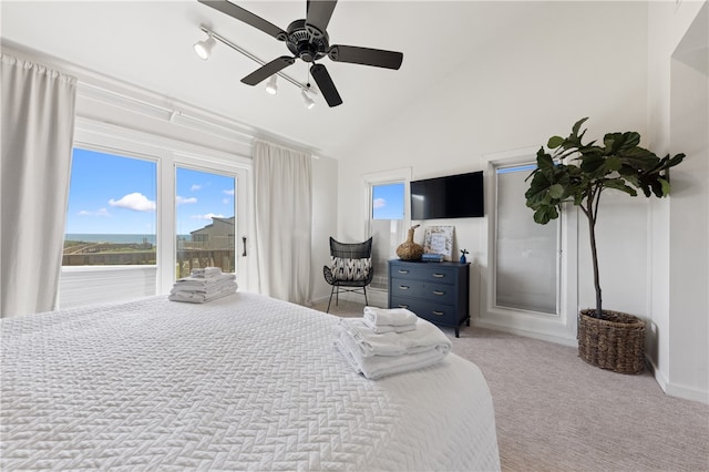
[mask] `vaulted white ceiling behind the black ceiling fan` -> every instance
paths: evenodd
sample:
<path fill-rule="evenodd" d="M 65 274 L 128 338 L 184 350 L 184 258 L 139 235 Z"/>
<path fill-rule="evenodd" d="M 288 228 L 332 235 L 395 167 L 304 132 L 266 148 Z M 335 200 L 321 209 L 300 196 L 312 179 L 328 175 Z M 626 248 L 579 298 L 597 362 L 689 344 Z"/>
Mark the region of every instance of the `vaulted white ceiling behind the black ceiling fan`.
<path fill-rule="evenodd" d="M 286 29 L 305 18 L 306 0 L 235 3 Z M 552 2 L 553 3 L 553 2 Z M 338 157 L 369 133 L 405 113 L 420 94 L 461 69 L 474 71 L 475 51 L 514 37 L 516 24 L 541 21 L 536 2 L 340 0 L 328 25 L 330 44 L 403 52 L 399 71 L 358 64 L 327 66 L 343 104 L 312 110 L 300 91 L 279 80 L 277 96 L 265 83 L 240 79 L 259 64 L 217 43 L 208 61 L 192 45 L 205 25 L 268 62 L 287 54 L 273 37 L 197 1 L 2 1 L 1 37 L 9 44 L 100 72 L 186 102 Z M 522 39 L 523 40 L 523 39 Z M 308 64 L 284 71 L 307 82 Z"/>

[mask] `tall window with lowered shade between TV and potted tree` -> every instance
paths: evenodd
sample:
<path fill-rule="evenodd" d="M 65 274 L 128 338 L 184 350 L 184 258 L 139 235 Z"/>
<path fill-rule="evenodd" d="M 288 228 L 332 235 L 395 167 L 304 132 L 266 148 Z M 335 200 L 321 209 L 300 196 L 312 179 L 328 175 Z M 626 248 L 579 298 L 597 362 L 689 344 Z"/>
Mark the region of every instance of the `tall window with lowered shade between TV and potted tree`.
<path fill-rule="evenodd" d="M 525 205 L 534 165 L 495 168 L 495 306 L 559 312 L 561 218 L 538 225 Z"/>

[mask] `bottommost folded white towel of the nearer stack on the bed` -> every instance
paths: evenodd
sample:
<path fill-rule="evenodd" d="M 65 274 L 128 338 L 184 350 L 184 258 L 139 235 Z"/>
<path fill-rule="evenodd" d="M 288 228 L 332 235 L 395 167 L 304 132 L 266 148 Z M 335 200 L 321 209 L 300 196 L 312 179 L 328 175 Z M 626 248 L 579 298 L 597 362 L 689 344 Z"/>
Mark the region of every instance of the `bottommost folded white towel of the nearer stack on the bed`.
<path fill-rule="evenodd" d="M 335 347 L 356 372 L 372 380 L 433 366 L 448 355 L 448 350 L 431 349 L 402 356 L 363 357 L 360 355 L 358 346 L 347 334 L 335 339 Z"/>

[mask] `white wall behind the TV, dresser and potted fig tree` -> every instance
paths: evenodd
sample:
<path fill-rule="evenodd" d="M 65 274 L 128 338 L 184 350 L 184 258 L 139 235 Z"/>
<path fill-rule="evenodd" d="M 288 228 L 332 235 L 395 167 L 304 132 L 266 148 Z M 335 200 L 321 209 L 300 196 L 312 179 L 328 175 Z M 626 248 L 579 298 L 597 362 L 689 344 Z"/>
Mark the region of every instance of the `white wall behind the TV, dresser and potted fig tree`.
<path fill-rule="evenodd" d="M 490 156 L 538 148 L 554 134 L 571 133 L 583 116 L 590 117 L 593 138 L 619 130 L 645 136 L 647 4 L 532 2 L 524 8 L 528 10 L 523 21 L 505 24 L 507 34 L 484 44 L 379 135 L 342 156 L 338 224 L 342 237 L 363 236 L 358 193 L 362 174 L 411 166 L 417 179 L 486 170 Z M 648 202 L 608 193 L 602 205 L 598 238 L 605 306 L 646 316 Z M 441 222 L 425 222 L 435 223 Z M 446 223 L 455 225 L 455 250 L 466 247 L 474 261 L 471 314 L 476 318 L 485 309 L 480 294 L 489 278 L 489 218 Z M 621 235 L 617 225 L 624 227 Z M 583 216 L 579 226 L 578 304 L 587 307 L 595 304 L 595 296 Z M 422 234 L 418 233 L 419 239 Z M 626 238 L 628 234 L 633 237 Z M 573 312 L 564 314 L 566 326 L 555 340 L 575 341 L 576 309 L 574 305 Z M 520 330 L 546 337 L 542 325 Z"/>

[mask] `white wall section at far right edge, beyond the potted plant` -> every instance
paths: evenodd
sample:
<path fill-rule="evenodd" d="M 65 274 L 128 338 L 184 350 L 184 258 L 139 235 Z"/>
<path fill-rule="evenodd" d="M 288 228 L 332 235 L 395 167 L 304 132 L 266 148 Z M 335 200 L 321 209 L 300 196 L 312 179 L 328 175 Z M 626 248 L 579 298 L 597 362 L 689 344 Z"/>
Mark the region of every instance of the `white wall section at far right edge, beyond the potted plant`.
<path fill-rule="evenodd" d="M 709 402 L 709 6 L 651 3 L 649 29 L 649 127 L 687 154 L 650 212 L 649 352 L 668 393 Z"/>

